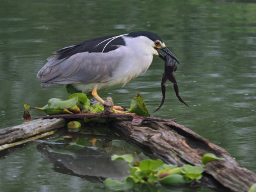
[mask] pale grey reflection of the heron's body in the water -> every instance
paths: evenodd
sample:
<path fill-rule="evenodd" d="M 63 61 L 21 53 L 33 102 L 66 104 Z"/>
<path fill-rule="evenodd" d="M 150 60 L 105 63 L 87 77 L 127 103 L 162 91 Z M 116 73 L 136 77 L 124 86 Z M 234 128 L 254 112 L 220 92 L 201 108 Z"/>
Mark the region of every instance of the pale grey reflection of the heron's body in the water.
<path fill-rule="evenodd" d="M 79 140 L 81 138 L 77 141 Z M 123 180 L 128 175 L 129 168 L 124 161 L 111 161 L 108 151 L 113 145 L 112 141 L 97 142 L 100 142 L 102 147 L 40 143 L 36 145 L 36 149 L 43 154 L 46 161 L 54 164 L 54 170 L 57 172 L 86 177 L 92 181 L 102 181 L 107 177 Z"/>

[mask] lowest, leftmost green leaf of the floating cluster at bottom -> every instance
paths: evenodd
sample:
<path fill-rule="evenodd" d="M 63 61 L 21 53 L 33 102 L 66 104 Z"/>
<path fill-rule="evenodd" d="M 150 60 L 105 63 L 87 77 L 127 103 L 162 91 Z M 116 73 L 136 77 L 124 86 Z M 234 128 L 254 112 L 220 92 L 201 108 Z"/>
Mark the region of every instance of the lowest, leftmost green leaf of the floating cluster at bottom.
<path fill-rule="evenodd" d="M 121 190 L 132 189 L 134 186 L 134 181 L 131 177 L 126 177 L 126 179 L 123 182 L 120 182 L 119 180 L 113 180 L 113 179 L 107 178 L 104 181 L 104 184 L 106 188 L 109 188 L 113 191 L 121 191 Z"/>

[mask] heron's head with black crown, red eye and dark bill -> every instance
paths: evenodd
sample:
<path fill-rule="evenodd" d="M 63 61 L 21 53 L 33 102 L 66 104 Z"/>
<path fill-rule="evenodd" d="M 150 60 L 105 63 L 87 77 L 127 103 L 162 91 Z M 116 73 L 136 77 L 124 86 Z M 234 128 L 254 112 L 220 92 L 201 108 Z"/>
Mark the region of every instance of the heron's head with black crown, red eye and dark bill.
<path fill-rule="evenodd" d="M 163 40 L 156 35 L 155 33 L 152 33 L 150 31 L 136 31 L 127 34 L 127 36 L 131 37 L 138 37 L 138 36 L 146 36 L 150 40 L 150 46 L 152 46 L 154 49 L 156 49 L 156 54 L 161 59 L 165 60 L 163 54 L 161 54 L 160 50 L 165 52 L 166 54 L 170 55 L 177 63 L 179 63 L 179 60 L 175 57 L 175 55 L 166 47 Z"/>

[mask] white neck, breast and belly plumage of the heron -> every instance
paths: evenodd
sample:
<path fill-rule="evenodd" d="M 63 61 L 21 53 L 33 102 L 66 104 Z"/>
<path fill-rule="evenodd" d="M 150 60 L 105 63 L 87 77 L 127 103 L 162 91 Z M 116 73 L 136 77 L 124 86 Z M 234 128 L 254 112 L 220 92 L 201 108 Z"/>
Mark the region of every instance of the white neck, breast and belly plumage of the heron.
<path fill-rule="evenodd" d="M 152 41 L 145 36 L 138 38 L 127 38 L 125 36 L 124 39 L 126 46 L 120 46 L 113 51 L 115 54 L 122 54 L 123 58 L 113 73 L 113 77 L 109 81 L 102 83 L 74 84 L 77 90 L 86 93 L 92 92 L 96 86 L 97 90 L 100 90 L 116 84 L 125 85 L 132 78 L 139 76 L 148 69 L 152 63 L 153 55 L 157 54 L 157 51 L 153 48 Z"/>

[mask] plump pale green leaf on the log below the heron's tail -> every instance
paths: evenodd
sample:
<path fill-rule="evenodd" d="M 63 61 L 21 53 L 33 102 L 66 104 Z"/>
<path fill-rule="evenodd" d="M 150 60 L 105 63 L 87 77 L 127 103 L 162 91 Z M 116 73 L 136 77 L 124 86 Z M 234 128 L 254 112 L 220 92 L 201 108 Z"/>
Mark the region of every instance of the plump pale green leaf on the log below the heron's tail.
<path fill-rule="evenodd" d="M 51 98 L 48 100 L 48 106 L 52 109 L 68 109 L 72 108 L 78 102 L 78 97 L 74 97 L 68 100 L 61 100 L 58 98 Z"/>

